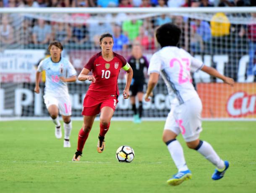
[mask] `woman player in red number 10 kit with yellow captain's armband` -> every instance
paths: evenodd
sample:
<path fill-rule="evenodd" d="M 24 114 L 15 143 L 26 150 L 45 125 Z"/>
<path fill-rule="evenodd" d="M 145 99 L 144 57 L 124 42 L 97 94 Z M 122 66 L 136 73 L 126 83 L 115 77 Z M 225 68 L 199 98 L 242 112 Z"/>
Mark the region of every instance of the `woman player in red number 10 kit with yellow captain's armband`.
<path fill-rule="evenodd" d="M 92 83 L 84 98 L 82 111 L 84 124 L 78 134 L 78 146 L 73 161 L 80 160 L 94 118 L 99 113 L 100 131 L 97 151 L 102 153 L 104 150 L 104 136 L 110 127 L 110 120 L 118 103 L 118 75 L 121 68 L 127 72 L 123 98 L 129 97 L 133 70 L 124 57 L 112 51 L 114 42 L 110 33 L 102 34 L 99 43 L 102 51 L 91 57 L 78 76 L 78 80 L 90 80 Z M 92 75 L 88 75 L 90 71 Z"/>

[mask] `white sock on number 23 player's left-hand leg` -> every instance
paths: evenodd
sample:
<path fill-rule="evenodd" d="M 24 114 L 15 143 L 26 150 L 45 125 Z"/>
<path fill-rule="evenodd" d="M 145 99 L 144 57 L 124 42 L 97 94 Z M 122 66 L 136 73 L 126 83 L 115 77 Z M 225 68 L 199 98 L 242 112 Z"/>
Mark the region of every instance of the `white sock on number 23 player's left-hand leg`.
<path fill-rule="evenodd" d="M 178 142 L 177 140 L 172 141 L 170 142 L 170 144 L 167 145 L 167 148 L 179 172 L 188 170 L 183 154 L 183 148 L 181 147 L 180 142 Z"/>

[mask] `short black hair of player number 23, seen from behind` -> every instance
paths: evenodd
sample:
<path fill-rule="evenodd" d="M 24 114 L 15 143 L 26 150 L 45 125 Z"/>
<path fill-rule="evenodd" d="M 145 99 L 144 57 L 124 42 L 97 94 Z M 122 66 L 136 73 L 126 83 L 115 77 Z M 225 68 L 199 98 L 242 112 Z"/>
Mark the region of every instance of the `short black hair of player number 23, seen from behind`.
<path fill-rule="evenodd" d="M 181 30 L 172 23 L 165 23 L 156 31 L 156 38 L 161 47 L 177 46 L 180 40 Z"/>

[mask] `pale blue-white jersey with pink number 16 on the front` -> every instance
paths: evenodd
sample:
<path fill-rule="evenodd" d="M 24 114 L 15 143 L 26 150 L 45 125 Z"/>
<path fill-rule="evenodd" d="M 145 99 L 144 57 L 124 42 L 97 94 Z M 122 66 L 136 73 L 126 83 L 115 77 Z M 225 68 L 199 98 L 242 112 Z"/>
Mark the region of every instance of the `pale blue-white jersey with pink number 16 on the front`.
<path fill-rule="evenodd" d="M 38 72 L 46 72 L 44 95 L 63 97 L 68 95 L 67 82 L 60 80 L 60 77 L 72 77 L 76 75 L 73 65 L 65 58 L 60 62 L 52 62 L 51 57 L 42 60 L 37 68 Z"/>

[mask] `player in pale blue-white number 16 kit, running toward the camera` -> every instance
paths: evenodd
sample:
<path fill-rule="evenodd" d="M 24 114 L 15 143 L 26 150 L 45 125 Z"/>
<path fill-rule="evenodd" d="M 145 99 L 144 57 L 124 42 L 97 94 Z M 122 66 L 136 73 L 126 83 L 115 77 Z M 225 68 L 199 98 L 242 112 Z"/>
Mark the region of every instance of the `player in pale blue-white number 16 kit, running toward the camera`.
<path fill-rule="evenodd" d="M 76 81 L 76 70 L 65 58 L 61 57 L 63 46 L 54 41 L 49 47 L 51 57 L 42 60 L 37 68 L 36 86 L 34 92 L 39 93 L 41 72 L 45 70 L 44 103 L 55 124 L 55 136 L 62 138 L 59 111 L 64 121 L 64 147 L 71 147 L 69 137 L 72 129 L 71 100 L 68 94 L 67 82 Z"/>

